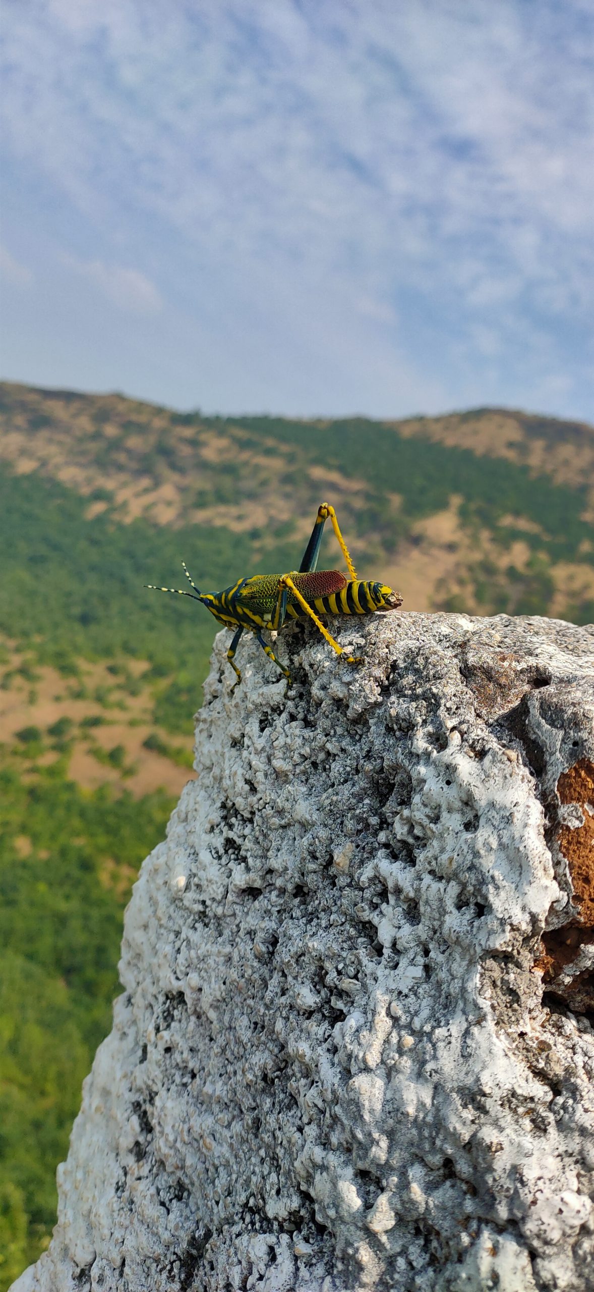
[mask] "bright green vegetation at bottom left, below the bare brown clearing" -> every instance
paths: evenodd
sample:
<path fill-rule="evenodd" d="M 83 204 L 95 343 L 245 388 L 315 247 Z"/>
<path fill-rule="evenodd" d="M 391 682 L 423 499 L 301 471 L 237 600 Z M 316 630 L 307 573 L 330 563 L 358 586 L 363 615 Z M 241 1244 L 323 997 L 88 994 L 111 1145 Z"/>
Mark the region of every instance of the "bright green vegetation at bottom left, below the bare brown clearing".
<path fill-rule="evenodd" d="M 121 912 L 173 800 L 0 770 L 0 1288 L 46 1245 L 57 1163 L 118 995 Z M 114 859 L 116 858 L 116 863 Z"/>

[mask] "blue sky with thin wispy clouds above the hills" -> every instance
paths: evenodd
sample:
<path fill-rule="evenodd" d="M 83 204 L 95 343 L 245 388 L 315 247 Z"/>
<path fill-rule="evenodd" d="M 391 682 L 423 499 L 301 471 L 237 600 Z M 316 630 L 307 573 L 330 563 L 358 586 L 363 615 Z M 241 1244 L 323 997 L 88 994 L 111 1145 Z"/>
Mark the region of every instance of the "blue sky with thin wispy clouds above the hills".
<path fill-rule="evenodd" d="M 594 420 L 591 0 L 4 0 L 1 375 Z"/>

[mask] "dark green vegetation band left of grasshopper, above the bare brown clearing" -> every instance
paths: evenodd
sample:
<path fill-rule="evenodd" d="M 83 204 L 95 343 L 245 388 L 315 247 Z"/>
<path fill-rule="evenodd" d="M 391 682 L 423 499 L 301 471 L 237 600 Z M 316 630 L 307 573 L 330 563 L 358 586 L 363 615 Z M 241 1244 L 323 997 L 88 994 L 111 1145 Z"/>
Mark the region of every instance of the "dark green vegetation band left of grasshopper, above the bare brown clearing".
<path fill-rule="evenodd" d="M 239 568 L 243 544 L 226 530 L 169 531 L 146 521 L 85 519 L 85 500 L 39 474 L 0 472 L 3 580 L 0 630 L 40 663 L 76 673 L 77 656 L 148 659 L 163 673 L 204 677 L 214 624 L 201 607 L 145 590 L 183 578 L 181 558 L 204 585 Z M 189 683 L 190 685 L 190 683 Z M 107 699 L 105 695 L 103 699 Z"/>

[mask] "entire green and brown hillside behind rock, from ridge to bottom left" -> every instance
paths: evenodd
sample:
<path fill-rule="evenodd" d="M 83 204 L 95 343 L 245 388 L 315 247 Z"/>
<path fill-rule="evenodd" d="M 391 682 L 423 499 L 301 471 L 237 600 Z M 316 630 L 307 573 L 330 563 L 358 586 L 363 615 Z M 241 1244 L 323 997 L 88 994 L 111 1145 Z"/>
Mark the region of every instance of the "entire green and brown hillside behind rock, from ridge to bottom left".
<path fill-rule="evenodd" d="M 207 417 L 0 386 L 0 1292 L 49 1240 L 121 911 L 190 775 L 216 625 L 143 584 L 181 558 L 205 589 L 294 568 L 328 497 L 407 610 L 586 623 L 593 491 L 594 429 L 520 412 Z"/>

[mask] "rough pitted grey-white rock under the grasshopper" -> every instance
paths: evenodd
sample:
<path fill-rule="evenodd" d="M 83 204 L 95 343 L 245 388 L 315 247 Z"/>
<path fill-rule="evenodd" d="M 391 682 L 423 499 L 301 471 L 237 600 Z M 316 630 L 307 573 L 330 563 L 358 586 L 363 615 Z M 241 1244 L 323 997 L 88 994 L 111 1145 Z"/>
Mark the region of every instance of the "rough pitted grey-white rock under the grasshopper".
<path fill-rule="evenodd" d="M 594 1288 L 594 628 L 217 638 L 18 1292 Z"/>

